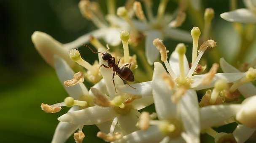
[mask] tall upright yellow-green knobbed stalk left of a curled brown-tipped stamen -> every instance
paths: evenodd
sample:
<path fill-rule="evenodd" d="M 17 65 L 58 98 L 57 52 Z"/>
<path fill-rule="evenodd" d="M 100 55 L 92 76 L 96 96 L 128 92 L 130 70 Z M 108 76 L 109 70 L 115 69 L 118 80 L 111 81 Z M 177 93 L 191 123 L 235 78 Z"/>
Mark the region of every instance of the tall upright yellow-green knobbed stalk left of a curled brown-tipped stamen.
<path fill-rule="evenodd" d="M 198 27 L 193 27 L 190 34 L 193 39 L 192 64 L 194 64 L 197 58 L 198 41 L 199 41 L 199 36 L 201 35 L 201 31 Z"/>

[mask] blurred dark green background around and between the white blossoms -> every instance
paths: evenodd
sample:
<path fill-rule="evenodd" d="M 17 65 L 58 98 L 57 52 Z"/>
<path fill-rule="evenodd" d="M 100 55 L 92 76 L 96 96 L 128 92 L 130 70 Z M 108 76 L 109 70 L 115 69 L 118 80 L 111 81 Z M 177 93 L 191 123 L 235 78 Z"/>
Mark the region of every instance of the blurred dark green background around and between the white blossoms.
<path fill-rule="evenodd" d="M 125 0 L 117 1 L 118 6 L 121 6 Z M 211 7 L 215 10 L 213 34 L 218 35 L 222 32 L 222 24 L 232 29 L 232 25 L 219 16 L 229 11 L 228 0 L 202 1 L 204 8 Z M 242 1 L 238 1 L 238 7 L 244 7 Z M 35 50 L 31 35 L 34 31 L 42 31 L 66 43 L 96 29 L 91 21 L 81 16 L 78 2 L 79 0 L 0 0 L 1 143 L 51 142 L 58 123 L 57 117 L 64 114 L 67 108 L 57 114 L 46 114 L 40 109 L 40 103 L 61 102 L 67 93 L 58 81 L 54 69 L 47 65 Z M 106 13 L 105 0 L 98 0 L 98 2 L 102 11 Z M 159 1 L 154 0 L 154 3 Z M 176 0 L 170 0 L 167 12 L 172 13 L 176 6 Z M 154 7 L 154 12 L 156 9 L 157 7 Z M 189 15 L 181 28 L 190 31 L 193 26 L 197 26 L 191 19 L 193 17 Z M 213 37 L 217 42 L 218 38 L 218 36 Z M 168 40 L 165 43 L 172 51 L 178 42 Z M 91 63 L 97 58 L 87 49 L 82 50 L 82 54 L 83 58 Z M 190 59 L 191 49 L 188 49 L 187 55 Z M 232 124 L 224 128 L 226 132 L 231 132 L 234 127 L 235 124 Z M 102 142 L 96 138 L 97 131 L 95 126 L 84 127 L 86 135 L 84 143 Z M 202 139 L 202 142 L 213 141 L 213 138 L 207 135 L 203 135 Z M 68 140 L 68 143 L 74 142 L 73 137 Z"/>

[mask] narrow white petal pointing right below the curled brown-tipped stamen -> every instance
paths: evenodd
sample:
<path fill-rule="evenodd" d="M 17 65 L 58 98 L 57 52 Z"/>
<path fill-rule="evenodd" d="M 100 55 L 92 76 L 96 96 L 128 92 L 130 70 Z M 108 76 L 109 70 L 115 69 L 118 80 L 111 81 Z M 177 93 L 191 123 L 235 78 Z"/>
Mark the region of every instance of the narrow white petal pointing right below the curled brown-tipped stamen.
<path fill-rule="evenodd" d="M 214 83 L 218 79 L 226 79 L 228 83 L 234 82 L 238 79 L 241 79 L 245 76 L 245 73 L 239 72 L 239 73 L 218 73 L 215 74 L 213 77 L 212 82 L 209 85 L 202 85 L 202 79 L 206 76 L 206 74 L 199 74 L 199 75 L 194 75 L 192 77 L 193 83 L 191 84 L 191 88 L 194 90 L 202 90 L 206 88 L 211 88 L 214 86 Z"/>

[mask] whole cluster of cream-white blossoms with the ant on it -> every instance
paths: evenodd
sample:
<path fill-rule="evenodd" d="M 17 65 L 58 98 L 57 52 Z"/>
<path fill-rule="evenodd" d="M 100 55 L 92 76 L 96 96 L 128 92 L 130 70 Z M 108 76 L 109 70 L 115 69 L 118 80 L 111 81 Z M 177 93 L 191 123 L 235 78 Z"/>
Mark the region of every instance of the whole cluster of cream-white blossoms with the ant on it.
<path fill-rule="evenodd" d="M 97 137 L 112 143 L 199 143 L 203 133 L 212 136 L 216 143 L 244 143 L 256 130 L 256 87 L 251 83 L 256 80 L 256 60 L 241 72 L 221 58 L 219 64 L 214 63 L 206 72 L 206 66 L 199 61 L 206 50 L 217 45 L 208 39 L 213 9 L 205 10 L 204 32 L 200 36 L 198 27 L 193 27 L 190 33 L 176 29 L 186 20 L 188 4 L 197 11 L 200 0 L 180 0 L 174 18 L 165 14 L 169 0 L 160 0 L 156 16 L 152 1 L 142 1 L 146 15 L 138 1 L 127 0 L 125 7 L 116 9 L 115 0 L 107 0 L 105 19 L 96 2 L 81 0 L 81 14 L 98 29 L 67 44 L 43 32 L 32 34 L 35 48 L 54 67 L 69 95 L 60 103 L 41 104 L 47 113 L 70 107 L 58 118 L 52 143 L 65 143 L 71 135 L 76 143 L 82 143 L 86 138 L 83 127 L 94 124 L 100 130 Z M 236 22 L 256 21 L 254 0 L 244 1 L 249 10 L 238 9 L 221 17 Z M 176 46 L 168 61 L 169 51 L 162 42 L 165 37 L 191 41 L 191 62 L 186 58 L 184 43 Z M 107 45 L 102 45 L 98 38 L 103 38 Z M 144 48 L 138 46 L 144 41 L 146 58 Z M 121 43 L 123 54 L 109 48 Z M 98 61 L 90 64 L 84 60 L 76 49 L 81 44 L 97 54 Z M 133 56 L 129 44 L 135 47 Z M 156 62 L 159 55 L 161 62 Z M 137 72 L 141 68 L 137 56 L 147 72 Z M 217 73 L 219 66 L 224 73 Z M 140 81 L 143 74 L 149 76 L 148 81 Z M 87 88 L 84 80 L 93 86 Z M 205 93 L 202 99 L 198 98 L 199 90 Z M 241 97 L 243 102 L 238 100 Z M 139 111 L 151 104 L 156 113 Z M 213 130 L 232 122 L 238 124 L 232 133 Z"/>

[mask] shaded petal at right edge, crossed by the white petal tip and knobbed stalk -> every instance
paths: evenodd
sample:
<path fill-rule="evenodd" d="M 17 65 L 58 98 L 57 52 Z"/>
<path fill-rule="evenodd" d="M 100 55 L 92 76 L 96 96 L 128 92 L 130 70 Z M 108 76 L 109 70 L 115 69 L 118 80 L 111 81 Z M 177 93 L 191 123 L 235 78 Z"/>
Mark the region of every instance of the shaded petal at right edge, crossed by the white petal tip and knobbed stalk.
<path fill-rule="evenodd" d="M 220 65 L 223 72 L 240 72 L 234 66 L 230 65 L 228 62 L 224 60 L 224 58 L 220 59 Z M 240 87 L 238 87 L 239 92 L 245 97 L 248 98 L 256 94 L 256 87 L 251 83 L 248 82 Z"/>

